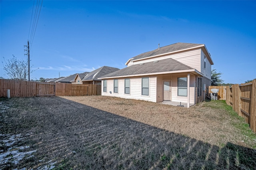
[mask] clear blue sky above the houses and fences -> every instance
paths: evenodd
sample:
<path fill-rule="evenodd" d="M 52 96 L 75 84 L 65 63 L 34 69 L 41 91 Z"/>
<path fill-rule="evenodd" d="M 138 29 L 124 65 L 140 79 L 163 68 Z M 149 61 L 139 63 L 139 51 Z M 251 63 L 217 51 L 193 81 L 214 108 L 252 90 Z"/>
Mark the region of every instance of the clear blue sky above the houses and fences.
<path fill-rule="evenodd" d="M 0 59 L 26 60 L 33 3 L 1 0 Z M 256 78 L 256 1 L 44 0 L 30 45 L 30 79 L 124 68 L 177 42 L 205 44 L 224 83 Z M 4 75 L 0 63 L 0 77 Z"/>

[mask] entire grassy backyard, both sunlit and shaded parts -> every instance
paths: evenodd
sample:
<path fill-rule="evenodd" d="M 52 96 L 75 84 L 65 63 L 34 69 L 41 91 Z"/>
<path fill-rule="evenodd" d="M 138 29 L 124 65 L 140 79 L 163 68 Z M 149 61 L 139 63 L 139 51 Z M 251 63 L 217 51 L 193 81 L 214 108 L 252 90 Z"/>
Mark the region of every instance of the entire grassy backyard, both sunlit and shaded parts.
<path fill-rule="evenodd" d="M 223 101 L 1 98 L 0 109 L 3 170 L 256 168 L 256 135 Z"/>

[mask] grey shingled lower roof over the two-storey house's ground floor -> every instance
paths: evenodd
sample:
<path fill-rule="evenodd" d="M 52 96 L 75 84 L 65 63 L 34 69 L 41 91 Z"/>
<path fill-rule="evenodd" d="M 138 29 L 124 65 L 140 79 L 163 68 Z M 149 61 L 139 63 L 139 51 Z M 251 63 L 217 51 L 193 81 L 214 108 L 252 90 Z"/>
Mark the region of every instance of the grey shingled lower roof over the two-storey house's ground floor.
<path fill-rule="evenodd" d="M 124 69 L 120 69 L 108 75 L 100 77 L 100 79 L 113 78 L 113 77 L 131 77 L 141 75 L 156 75 L 166 73 L 182 73 L 182 72 L 193 72 L 201 75 L 199 71 L 185 65 L 175 59 L 161 59 L 158 61 L 150 61 L 141 64 L 134 64 Z"/>

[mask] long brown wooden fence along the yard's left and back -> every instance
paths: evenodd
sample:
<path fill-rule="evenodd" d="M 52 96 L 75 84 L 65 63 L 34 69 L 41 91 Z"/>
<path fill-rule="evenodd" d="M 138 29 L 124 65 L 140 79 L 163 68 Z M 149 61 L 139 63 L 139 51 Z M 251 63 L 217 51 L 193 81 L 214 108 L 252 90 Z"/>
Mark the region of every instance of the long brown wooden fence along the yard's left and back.
<path fill-rule="evenodd" d="M 7 89 L 10 89 L 10 97 L 101 95 L 101 85 L 38 83 L 0 79 L 0 97 L 7 96 Z"/>

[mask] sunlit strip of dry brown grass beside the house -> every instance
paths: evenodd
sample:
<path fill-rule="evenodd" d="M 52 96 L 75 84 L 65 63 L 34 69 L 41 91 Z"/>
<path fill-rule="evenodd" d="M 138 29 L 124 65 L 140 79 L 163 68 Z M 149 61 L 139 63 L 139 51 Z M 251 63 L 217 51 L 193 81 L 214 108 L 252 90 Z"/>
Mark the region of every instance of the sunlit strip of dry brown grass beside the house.
<path fill-rule="evenodd" d="M 231 125 L 231 118 L 223 109 L 205 107 L 202 103 L 188 109 L 106 96 L 63 98 L 217 146 L 227 142 L 238 144 L 246 138 Z"/>

